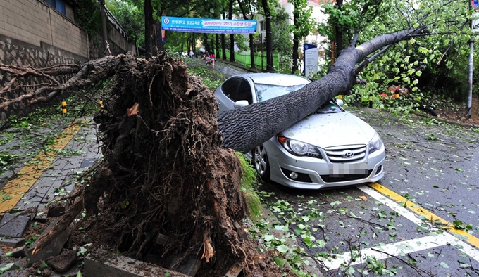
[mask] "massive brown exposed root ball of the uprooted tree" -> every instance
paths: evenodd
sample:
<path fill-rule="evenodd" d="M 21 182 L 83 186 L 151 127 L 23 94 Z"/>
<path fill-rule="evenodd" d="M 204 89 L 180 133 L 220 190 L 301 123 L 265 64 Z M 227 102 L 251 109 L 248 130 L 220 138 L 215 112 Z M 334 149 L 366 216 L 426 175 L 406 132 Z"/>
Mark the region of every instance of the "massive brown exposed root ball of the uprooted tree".
<path fill-rule="evenodd" d="M 71 206 L 79 212 L 81 200 L 87 212 L 73 240 L 137 259 L 163 257 L 173 268 L 196 257 L 197 276 L 224 276 L 237 262 L 245 276 L 281 276 L 256 242 L 235 230 L 247 216 L 242 172 L 237 155 L 221 147 L 217 108 L 185 63 L 124 58 L 95 118 L 104 160 Z M 72 220 L 70 214 L 63 226 Z"/>

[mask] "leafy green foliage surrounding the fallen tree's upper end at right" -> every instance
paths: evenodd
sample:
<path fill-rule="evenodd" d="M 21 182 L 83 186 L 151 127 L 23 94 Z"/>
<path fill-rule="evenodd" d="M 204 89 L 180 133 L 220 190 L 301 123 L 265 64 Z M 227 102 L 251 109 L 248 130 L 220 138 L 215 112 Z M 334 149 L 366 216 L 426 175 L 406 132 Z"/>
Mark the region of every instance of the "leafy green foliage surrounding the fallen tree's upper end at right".
<path fill-rule="evenodd" d="M 470 38 L 467 19 L 471 18 L 468 4 L 352 0 L 341 10 L 330 4 L 323 5 L 323 10 L 329 18 L 327 24 L 318 27 L 318 32 L 334 40 L 339 27 L 344 46 L 356 33 L 359 34 L 356 45 L 380 34 L 421 25 L 427 25 L 427 32 L 431 34 L 390 46 L 360 72 L 358 79 L 365 79 L 366 85 L 355 86 L 354 94 L 344 97 L 345 103 L 373 103 L 374 108 L 404 115 L 420 105 L 464 99 L 468 88 L 467 41 Z M 408 93 L 389 98 L 391 90 L 398 86 Z"/>

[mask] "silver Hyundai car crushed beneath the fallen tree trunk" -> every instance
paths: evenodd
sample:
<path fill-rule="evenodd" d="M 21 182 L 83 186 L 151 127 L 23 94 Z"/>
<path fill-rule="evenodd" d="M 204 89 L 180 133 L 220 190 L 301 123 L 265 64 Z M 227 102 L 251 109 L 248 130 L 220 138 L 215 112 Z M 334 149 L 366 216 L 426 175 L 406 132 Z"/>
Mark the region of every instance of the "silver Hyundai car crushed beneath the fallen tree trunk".
<path fill-rule="evenodd" d="M 232 110 L 301 89 L 297 75 L 249 73 L 232 76 L 216 89 L 220 110 Z M 366 122 L 331 99 L 316 112 L 248 153 L 261 179 L 292 188 L 329 188 L 378 181 L 385 148 Z"/>

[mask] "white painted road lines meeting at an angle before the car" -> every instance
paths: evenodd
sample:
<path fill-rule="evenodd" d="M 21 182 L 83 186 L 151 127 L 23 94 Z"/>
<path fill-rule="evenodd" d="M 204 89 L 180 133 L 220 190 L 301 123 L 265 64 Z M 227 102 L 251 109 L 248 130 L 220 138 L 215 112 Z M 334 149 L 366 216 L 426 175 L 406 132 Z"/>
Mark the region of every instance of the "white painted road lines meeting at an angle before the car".
<path fill-rule="evenodd" d="M 413 223 L 419 226 L 423 224 L 428 224 L 427 222 L 421 220 L 416 214 L 414 214 L 410 210 L 406 209 L 405 207 L 402 207 L 402 205 L 399 205 L 397 202 L 390 200 L 385 195 L 378 193 L 372 188 L 369 188 L 368 186 L 359 186 L 358 188 L 364 193 L 367 193 L 375 200 L 381 202 L 383 205 L 390 207 L 391 210 L 394 210 L 394 212 L 397 212 L 398 214 L 402 215 L 402 217 L 406 217 L 406 219 L 409 219 Z M 456 238 L 451 233 L 447 233 L 446 231 L 444 231 L 443 233 L 435 233 L 435 231 L 438 231 L 437 228 L 434 228 L 430 224 L 428 225 L 430 226 L 430 230 L 432 231 L 431 236 L 425 236 L 412 240 L 404 240 L 397 243 L 384 244 L 378 247 L 362 249 L 360 251 L 361 257 L 359 257 L 359 251 L 354 251 L 353 256 L 355 257 L 355 259 L 354 262 L 351 262 L 351 265 L 361 264 L 361 262 L 363 262 L 367 257 L 375 257 L 377 260 L 387 259 L 391 257 L 390 255 L 401 257 L 408 253 L 428 250 L 430 248 L 443 245 L 454 245 L 454 247 L 479 262 L 479 250 L 477 250 L 475 247 L 472 247 L 468 243 L 465 243 L 464 241 L 460 240 L 460 238 Z M 390 255 L 375 251 L 375 249 L 386 252 Z M 351 253 L 348 252 L 344 253 L 343 255 L 337 255 L 335 259 L 318 259 L 320 259 L 330 270 L 339 269 L 341 264 L 347 265 L 351 261 Z"/>

